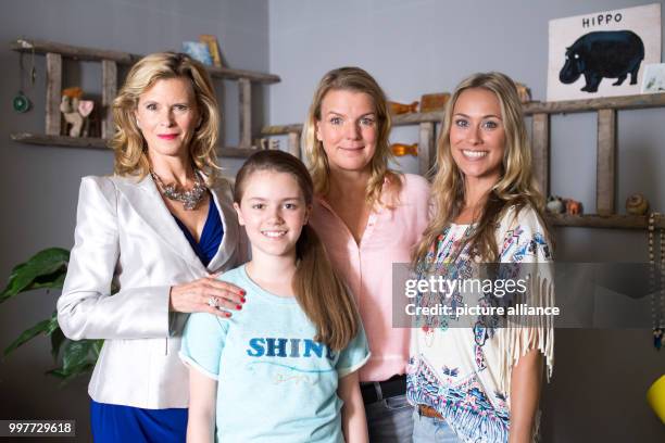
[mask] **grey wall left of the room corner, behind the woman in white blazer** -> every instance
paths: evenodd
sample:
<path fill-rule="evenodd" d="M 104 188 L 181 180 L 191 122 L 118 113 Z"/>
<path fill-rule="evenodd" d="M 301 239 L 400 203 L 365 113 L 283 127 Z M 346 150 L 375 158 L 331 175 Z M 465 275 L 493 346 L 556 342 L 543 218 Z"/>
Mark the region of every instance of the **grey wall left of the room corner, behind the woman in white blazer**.
<path fill-rule="evenodd" d="M 180 50 L 200 34 L 217 36 L 228 66 L 267 72 L 266 0 L 0 0 L 0 279 L 35 252 L 71 248 L 80 177 L 113 169 L 110 151 L 37 147 L 10 140 L 10 132 L 43 132 L 45 63 L 38 55 L 37 85 L 26 90 L 34 110 L 15 114 L 18 53 L 8 43 L 34 38 L 134 53 Z M 29 56 L 24 58 L 29 65 Z M 99 65 L 66 64 L 63 87 L 101 91 Z M 221 86 L 219 80 L 215 80 Z M 238 139 L 237 89 L 225 83 L 228 141 Z M 261 90 L 259 101 L 267 102 Z M 267 113 L 267 109 L 265 110 Z M 258 118 L 261 123 L 262 118 Z M 240 162 L 223 162 L 235 173 Z M 51 315 L 58 294 L 34 291 L 0 305 L 0 349 L 24 329 Z M 77 419 L 77 441 L 89 441 L 87 380 L 60 389 L 43 372 L 53 367 L 48 340 L 40 338 L 0 360 L 0 419 Z"/>

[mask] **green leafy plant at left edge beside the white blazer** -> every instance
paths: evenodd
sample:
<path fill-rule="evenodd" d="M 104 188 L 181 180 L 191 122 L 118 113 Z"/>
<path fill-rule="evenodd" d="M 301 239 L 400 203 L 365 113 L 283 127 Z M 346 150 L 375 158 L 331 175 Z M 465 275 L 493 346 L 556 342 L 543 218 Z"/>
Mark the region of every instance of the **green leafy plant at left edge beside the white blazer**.
<path fill-rule="evenodd" d="M 7 288 L 0 293 L 0 304 L 24 292 L 35 289 L 61 290 L 67 274 L 70 251 L 49 248 L 39 251 L 27 262 L 16 265 L 10 275 Z M 95 367 L 103 340 L 74 341 L 64 337 L 58 325 L 58 313 L 26 329 L 5 350 L 4 356 L 38 336 L 51 340 L 51 355 L 57 367 L 46 374 L 62 379 L 63 383 L 74 377 L 88 374 Z"/>

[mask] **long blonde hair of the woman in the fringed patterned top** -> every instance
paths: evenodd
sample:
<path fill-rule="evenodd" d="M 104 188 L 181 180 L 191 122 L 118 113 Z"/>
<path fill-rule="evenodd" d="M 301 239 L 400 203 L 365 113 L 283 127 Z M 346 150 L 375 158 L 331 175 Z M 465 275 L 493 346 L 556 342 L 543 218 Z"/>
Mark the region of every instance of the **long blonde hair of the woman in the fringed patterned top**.
<path fill-rule="evenodd" d="M 494 262 L 499 254 L 494 238 L 497 223 L 509 207 L 515 207 L 518 213 L 520 208 L 531 206 L 540 217 L 547 233 L 547 225 L 542 217 L 544 199 L 532 175 L 531 150 L 515 84 L 501 73 L 474 74 L 457 85 L 446 107 L 441 134 L 437 140 L 435 164 L 437 173 L 431 186 L 436 215 L 416 248 L 414 255 L 416 264 L 424 263 L 437 237 L 460 215 L 464 206 L 464 175 L 452 157 L 450 128 L 457 99 L 462 92 L 472 88 L 487 89 L 497 96 L 505 131 L 505 152 L 501 176 L 491 188 L 480 218 L 465 244 L 475 248 L 475 253 L 482 260 Z"/>

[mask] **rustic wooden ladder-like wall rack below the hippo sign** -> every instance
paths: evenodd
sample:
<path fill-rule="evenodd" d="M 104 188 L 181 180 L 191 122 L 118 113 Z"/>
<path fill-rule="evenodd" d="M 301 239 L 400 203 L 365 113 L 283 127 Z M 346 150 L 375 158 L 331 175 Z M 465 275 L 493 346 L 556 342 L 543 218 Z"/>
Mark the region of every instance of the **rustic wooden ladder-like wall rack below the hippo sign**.
<path fill-rule="evenodd" d="M 531 148 L 534 169 L 540 189 L 550 194 L 550 115 L 580 112 L 598 114 L 598 147 L 595 176 L 595 214 L 549 215 L 554 226 L 586 228 L 645 229 L 645 216 L 616 214 L 616 128 L 617 111 L 665 107 L 665 93 L 613 97 L 603 99 L 560 102 L 530 102 L 524 105 L 525 115 L 531 116 Z M 418 170 L 425 175 L 434 165 L 436 153 L 436 125 L 443 112 L 401 114 L 392 117 L 393 126 L 418 125 Z M 289 152 L 300 156 L 302 125 L 268 126 L 262 135 L 288 136 Z M 665 228 L 658 218 L 657 227 Z"/>

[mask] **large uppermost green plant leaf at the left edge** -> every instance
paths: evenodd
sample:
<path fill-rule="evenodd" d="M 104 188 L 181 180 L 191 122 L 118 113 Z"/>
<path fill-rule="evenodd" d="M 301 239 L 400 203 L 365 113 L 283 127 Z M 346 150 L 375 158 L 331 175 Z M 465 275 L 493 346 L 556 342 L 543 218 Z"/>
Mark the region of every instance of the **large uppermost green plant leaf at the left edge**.
<path fill-rule="evenodd" d="M 0 292 L 0 303 L 24 291 L 37 288 L 61 289 L 67 271 L 70 251 L 49 248 L 12 269 L 7 288 Z"/>

